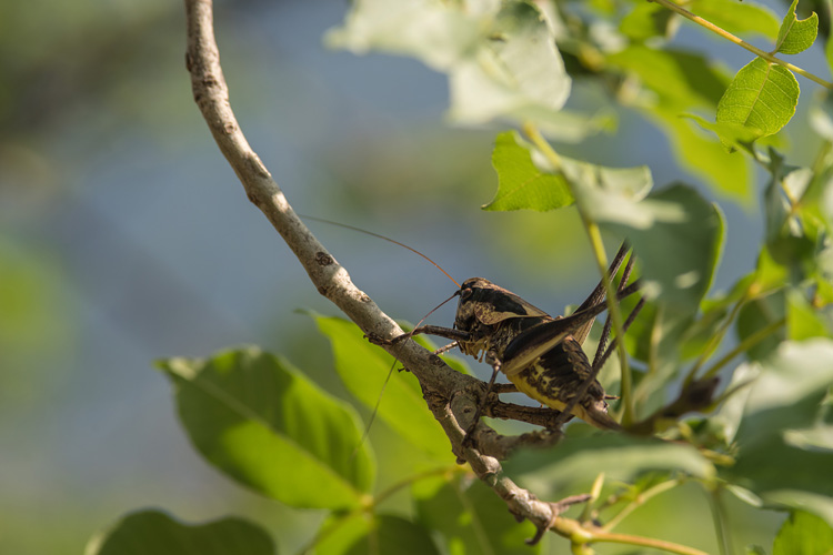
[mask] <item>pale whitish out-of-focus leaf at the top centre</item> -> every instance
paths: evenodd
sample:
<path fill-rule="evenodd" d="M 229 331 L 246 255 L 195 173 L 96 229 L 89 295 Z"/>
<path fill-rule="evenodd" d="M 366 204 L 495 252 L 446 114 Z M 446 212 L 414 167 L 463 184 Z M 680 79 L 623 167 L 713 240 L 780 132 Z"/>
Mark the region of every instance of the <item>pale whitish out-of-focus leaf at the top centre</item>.
<path fill-rule="evenodd" d="M 411 56 L 446 73 L 450 114 L 462 123 L 558 111 L 570 94 L 553 29 L 529 2 L 357 0 L 327 41 Z"/>

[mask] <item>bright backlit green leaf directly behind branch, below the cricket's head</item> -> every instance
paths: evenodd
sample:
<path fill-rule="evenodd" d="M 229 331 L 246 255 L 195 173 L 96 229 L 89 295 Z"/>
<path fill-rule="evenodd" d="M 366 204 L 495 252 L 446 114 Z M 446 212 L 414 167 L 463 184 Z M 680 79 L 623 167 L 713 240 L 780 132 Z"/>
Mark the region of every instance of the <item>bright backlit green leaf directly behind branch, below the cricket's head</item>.
<path fill-rule="evenodd" d="M 378 417 L 416 447 L 440 461 L 446 461 L 449 438 L 425 405 L 416 379 L 407 372 L 393 370 L 390 382 L 384 386 L 393 369 L 392 356 L 368 343 L 352 322 L 325 316 L 317 316 L 315 322 L 332 344 L 335 371 L 348 391 L 373 410 L 384 390 Z"/>

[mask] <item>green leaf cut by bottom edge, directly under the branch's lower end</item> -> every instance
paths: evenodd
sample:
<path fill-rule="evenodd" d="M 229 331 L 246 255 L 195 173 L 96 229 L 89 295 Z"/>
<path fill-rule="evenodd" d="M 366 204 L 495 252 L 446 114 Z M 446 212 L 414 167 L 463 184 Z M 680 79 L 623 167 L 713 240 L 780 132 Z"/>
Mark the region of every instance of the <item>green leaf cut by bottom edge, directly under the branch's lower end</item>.
<path fill-rule="evenodd" d="M 501 553 L 533 555 L 524 539 L 535 534 L 529 522 L 506 517 L 506 503 L 482 482 L 458 475 L 423 480 L 414 484 L 416 514 L 425 527 L 439 532 L 448 553 L 455 555 Z"/>

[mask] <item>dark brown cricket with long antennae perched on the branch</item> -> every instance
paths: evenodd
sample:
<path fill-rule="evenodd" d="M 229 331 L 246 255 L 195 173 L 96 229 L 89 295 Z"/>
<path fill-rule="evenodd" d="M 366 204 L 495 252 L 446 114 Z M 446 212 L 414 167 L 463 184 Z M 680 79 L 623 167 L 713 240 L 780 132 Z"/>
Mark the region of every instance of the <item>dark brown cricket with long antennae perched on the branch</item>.
<path fill-rule="evenodd" d="M 608 401 L 616 397 L 608 395 L 596 380 L 599 371 L 620 340 L 616 337 L 605 349 L 611 330 L 610 315 L 592 363 L 582 349 L 595 317 L 608 307 L 604 281 L 599 282 L 571 315 L 551 316 L 519 295 L 483 278 L 471 278 L 460 285 L 433 260 L 398 241 L 359 228 L 317 218 L 310 219 L 360 231 L 404 246 L 440 269 L 459 286 L 453 295 L 459 297 L 453 327 L 418 325 L 414 330 L 393 339 L 369 336 L 369 340 L 381 345 L 405 341 L 416 334 L 436 335 L 452 341 L 438 350 L 438 354 L 459 347 L 462 353 L 480 362 L 485 361 L 492 367 L 492 376 L 466 435 L 470 435 L 476 425 L 499 373 L 503 373 L 516 391 L 561 412 L 562 416 L 556 421 L 559 425 L 575 416 L 601 430 L 621 430 L 621 425 L 608 414 Z M 630 248 L 623 243 L 608 269 L 610 280 L 615 279 L 629 252 Z M 639 280 L 628 284 L 632 266 L 631 255 L 615 289 L 616 301 L 639 291 Z M 643 302 L 640 300 L 631 311 L 624 330 L 633 322 Z M 511 391 L 502 387 L 502 393 Z"/>

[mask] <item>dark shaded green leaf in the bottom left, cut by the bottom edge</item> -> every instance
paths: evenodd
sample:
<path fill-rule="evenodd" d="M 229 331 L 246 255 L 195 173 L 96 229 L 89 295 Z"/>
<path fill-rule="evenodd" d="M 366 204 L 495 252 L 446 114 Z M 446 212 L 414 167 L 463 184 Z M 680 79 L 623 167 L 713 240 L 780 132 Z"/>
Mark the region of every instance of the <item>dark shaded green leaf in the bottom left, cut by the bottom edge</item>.
<path fill-rule="evenodd" d="M 87 544 L 84 555 L 273 555 L 263 528 L 237 517 L 182 524 L 159 511 L 130 514 Z"/>

